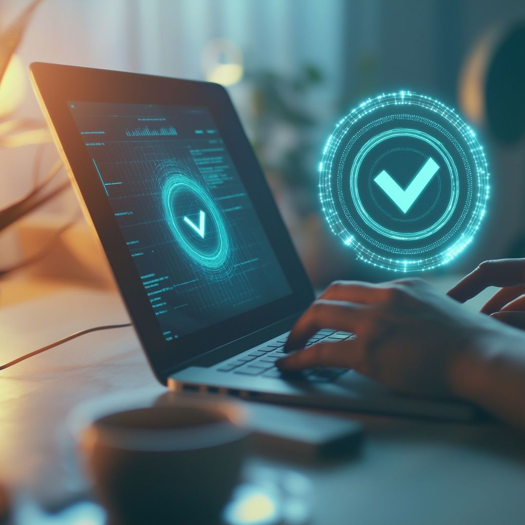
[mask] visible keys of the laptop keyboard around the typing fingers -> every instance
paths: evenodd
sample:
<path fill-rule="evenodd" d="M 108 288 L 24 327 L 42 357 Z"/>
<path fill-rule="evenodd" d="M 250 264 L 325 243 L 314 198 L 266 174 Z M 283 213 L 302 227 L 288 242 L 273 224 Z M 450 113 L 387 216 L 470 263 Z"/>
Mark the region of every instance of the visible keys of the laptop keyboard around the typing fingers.
<path fill-rule="evenodd" d="M 237 355 L 228 361 L 220 363 L 219 372 L 230 372 L 240 375 L 272 377 L 274 379 L 306 380 L 314 383 L 330 383 L 336 380 L 348 369 L 345 368 L 315 368 L 291 372 L 279 370 L 275 362 L 288 355 L 283 352 L 288 334 L 282 335 L 275 341 L 266 343 L 261 348 L 249 350 L 245 354 Z M 346 339 L 354 339 L 355 334 L 349 332 L 337 332 L 334 330 L 320 330 L 310 338 L 305 346 L 311 346 L 318 341 L 338 342 Z"/>

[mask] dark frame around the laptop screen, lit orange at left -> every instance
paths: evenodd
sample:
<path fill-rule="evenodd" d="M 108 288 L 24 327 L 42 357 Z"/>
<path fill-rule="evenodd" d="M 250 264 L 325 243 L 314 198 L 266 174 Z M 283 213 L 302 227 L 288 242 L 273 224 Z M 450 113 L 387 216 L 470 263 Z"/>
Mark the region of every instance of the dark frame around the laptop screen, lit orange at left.
<path fill-rule="evenodd" d="M 159 381 L 184 363 L 307 308 L 313 290 L 226 90 L 211 82 L 35 62 L 37 97 L 78 196 L 95 227 L 152 370 Z M 212 114 L 292 293 L 262 307 L 165 341 L 68 101 L 205 106 Z M 249 176 L 247 176 L 249 174 Z"/>

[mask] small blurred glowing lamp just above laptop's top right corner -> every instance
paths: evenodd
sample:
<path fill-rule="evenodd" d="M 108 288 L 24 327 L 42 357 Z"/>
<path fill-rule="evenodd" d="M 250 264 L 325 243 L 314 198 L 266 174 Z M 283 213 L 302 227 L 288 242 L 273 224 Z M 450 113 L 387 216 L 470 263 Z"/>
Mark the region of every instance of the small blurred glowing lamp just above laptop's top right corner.
<path fill-rule="evenodd" d="M 243 54 L 232 40 L 215 38 L 204 48 L 202 67 L 209 82 L 232 86 L 243 78 Z"/>

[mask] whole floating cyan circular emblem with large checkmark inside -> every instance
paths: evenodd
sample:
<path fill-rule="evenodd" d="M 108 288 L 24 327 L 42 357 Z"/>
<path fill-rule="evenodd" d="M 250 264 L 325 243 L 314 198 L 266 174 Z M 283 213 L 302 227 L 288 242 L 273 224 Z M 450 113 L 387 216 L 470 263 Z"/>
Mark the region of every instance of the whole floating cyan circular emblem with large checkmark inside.
<path fill-rule="evenodd" d="M 426 174 L 429 159 L 435 165 Z M 341 119 L 319 163 L 319 198 L 332 233 L 359 260 L 402 272 L 444 265 L 472 242 L 486 214 L 488 182 L 485 153 L 469 125 L 443 103 L 406 90 L 367 99 Z"/>

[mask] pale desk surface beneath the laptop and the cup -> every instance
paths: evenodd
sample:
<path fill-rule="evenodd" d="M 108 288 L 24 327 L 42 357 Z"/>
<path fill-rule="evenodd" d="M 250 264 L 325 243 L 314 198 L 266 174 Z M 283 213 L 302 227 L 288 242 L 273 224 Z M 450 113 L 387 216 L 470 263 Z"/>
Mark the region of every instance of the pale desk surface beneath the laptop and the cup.
<path fill-rule="evenodd" d="M 446 286 L 446 285 L 443 285 Z M 116 292 L 27 282 L 2 283 L 1 360 L 14 359 L 97 324 L 127 321 Z M 20 300 L 20 299 L 24 300 Z M 41 502 L 75 490 L 64 421 L 87 398 L 156 383 L 131 328 L 98 332 L 0 372 L 0 477 Z M 362 454 L 338 463 L 290 466 L 314 486 L 314 523 L 522 523 L 523 435 L 497 424 L 357 417 Z"/>

